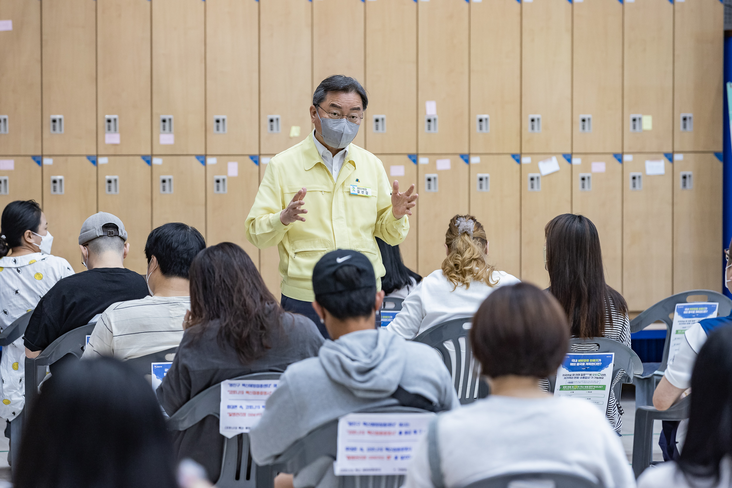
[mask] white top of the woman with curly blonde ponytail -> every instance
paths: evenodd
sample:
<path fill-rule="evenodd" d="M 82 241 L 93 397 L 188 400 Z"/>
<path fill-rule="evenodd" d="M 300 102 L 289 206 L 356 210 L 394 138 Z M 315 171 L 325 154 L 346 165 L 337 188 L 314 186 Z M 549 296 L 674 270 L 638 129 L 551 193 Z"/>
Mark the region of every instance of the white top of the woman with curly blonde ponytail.
<path fill-rule="evenodd" d="M 453 318 L 472 317 L 483 301 L 493 293 L 493 290 L 504 285 L 514 285 L 520 282 L 517 277 L 493 271 L 491 281 L 497 282 L 490 287 L 484 282 L 471 282 L 470 288 L 455 285 L 447 280 L 442 270 L 433 271 L 424 277 L 411 290 L 402 303 L 402 311 L 397 314 L 386 329 L 399 334 L 405 339 L 414 339 L 430 327 Z"/>

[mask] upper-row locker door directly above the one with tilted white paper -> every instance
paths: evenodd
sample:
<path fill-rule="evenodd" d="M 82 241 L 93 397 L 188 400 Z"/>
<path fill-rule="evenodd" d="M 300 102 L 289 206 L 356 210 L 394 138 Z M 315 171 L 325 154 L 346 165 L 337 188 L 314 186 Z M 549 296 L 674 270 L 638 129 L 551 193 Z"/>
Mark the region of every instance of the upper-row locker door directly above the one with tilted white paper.
<path fill-rule="evenodd" d="M 521 147 L 526 153 L 569 152 L 572 3 L 536 0 L 522 5 Z"/>

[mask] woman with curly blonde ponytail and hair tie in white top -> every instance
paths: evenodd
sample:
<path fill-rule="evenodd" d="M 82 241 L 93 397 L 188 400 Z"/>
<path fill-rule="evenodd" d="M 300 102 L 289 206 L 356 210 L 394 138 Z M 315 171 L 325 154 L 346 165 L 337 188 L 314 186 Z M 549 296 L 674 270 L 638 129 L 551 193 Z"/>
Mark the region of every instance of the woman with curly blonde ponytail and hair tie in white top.
<path fill-rule="evenodd" d="M 414 288 L 386 328 L 406 339 L 453 318 L 471 317 L 493 290 L 519 279 L 488 263 L 485 228 L 472 215 L 455 215 L 445 233 L 447 258 Z"/>

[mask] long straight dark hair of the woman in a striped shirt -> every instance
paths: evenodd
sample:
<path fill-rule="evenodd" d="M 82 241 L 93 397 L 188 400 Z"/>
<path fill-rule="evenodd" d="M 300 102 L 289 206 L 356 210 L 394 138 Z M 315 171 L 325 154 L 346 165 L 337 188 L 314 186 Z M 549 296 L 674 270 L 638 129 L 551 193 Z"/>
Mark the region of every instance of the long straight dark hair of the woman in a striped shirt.
<path fill-rule="evenodd" d="M 625 299 L 605 283 L 597 228 L 583 215 L 562 214 L 544 228 L 550 289 L 567 312 L 575 337 L 601 337 L 610 309 L 625 314 Z"/>

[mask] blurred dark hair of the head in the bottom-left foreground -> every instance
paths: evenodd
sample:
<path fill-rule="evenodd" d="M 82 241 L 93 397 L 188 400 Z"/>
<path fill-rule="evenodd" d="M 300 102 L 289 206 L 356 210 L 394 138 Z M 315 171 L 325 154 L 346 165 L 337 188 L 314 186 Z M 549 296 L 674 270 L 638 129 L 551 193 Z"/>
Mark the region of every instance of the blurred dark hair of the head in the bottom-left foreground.
<path fill-rule="evenodd" d="M 116 359 L 77 361 L 54 374 L 25 428 L 13 459 L 16 488 L 177 487 L 152 388 Z"/>

